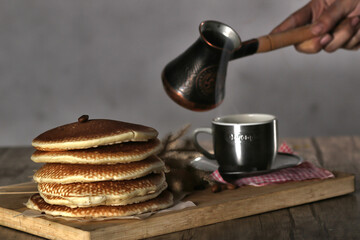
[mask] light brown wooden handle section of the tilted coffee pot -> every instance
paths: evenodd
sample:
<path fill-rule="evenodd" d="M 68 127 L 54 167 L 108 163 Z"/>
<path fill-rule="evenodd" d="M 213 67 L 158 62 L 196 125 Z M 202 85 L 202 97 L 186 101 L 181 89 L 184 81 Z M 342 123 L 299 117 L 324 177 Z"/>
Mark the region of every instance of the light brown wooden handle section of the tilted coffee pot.
<path fill-rule="evenodd" d="M 301 43 L 313 37 L 315 37 L 315 35 L 310 31 L 310 25 L 294 28 L 285 32 L 269 34 L 258 38 L 259 47 L 256 52 L 269 52 L 296 43 Z"/>

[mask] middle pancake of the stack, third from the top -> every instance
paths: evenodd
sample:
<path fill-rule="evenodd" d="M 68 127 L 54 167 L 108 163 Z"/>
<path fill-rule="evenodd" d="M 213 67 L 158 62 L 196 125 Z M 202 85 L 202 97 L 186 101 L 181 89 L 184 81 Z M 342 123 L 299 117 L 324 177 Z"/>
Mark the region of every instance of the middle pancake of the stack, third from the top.
<path fill-rule="evenodd" d="M 145 160 L 114 165 L 47 163 L 33 176 L 38 183 L 75 183 L 130 180 L 160 173 L 165 170 L 164 162 L 157 156 Z"/>

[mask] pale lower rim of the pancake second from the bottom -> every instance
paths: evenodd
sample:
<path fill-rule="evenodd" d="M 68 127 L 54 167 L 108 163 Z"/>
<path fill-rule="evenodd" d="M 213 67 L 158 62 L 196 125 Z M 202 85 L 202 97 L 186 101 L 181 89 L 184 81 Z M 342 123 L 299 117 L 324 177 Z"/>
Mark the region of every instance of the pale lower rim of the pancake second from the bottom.
<path fill-rule="evenodd" d="M 133 198 L 122 199 L 117 195 L 107 195 L 107 196 L 87 196 L 87 197 L 59 197 L 51 196 L 47 194 L 40 193 L 40 196 L 45 200 L 45 202 L 54 205 L 65 205 L 71 208 L 77 207 L 94 207 L 98 205 L 111 205 L 111 206 L 120 206 L 128 205 L 133 203 L 144 202 L 153 198 L 156 198 L 160 193 L 162 193 L 167 188 L 167 183 L 163 185 L 155 192 L 150 192 L 143 196 L 135 196 Z"/>

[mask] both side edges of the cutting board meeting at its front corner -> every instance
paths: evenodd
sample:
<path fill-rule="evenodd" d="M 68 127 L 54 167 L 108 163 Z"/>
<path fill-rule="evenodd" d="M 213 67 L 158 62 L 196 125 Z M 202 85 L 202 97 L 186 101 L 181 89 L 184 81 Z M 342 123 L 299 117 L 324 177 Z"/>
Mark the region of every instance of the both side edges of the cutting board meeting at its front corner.
<path fill-rule="evenodd" d="M 256 215 L 259 213 L 265 213 L 270 212 L 274 210 L 279 210 L 287 207 L 292 206 L 298 206 L 306 203 L 311 203 L 323 199 L 328 199 L 336 196 L 345 195 L 351 192 L 355 191 L 355 177 L 352 174 L 348 173 L 342 173 L 342 172 L 336 172 L 335 173 L 336 178 L 334 179 L 326 179 L 326 180 L 315 180 L 313 182 L 309 182 L 311 184 L 304 184 L 303 187 L 300 187 L 300 189 L 297 188 L 290 188 L 283 191 L 279 191 L 281 193 L 278 198 L 284 198 L 288 196 L 289 194 L 293 197 L 296 197 L 296 195 L 292 194 L 292 192 L 300 194 L 301 188 L 302 190 L 307 190 L 307 194 L 310 194 L 311 198 L 304 197 L 304 201 L 299 201 L 297 203 L 279 203 L 276 206 L 272 206 L 268 209 L 256 209 L 256 206 L 260 204 L 260 206 L 263 206 L 264 202 L 266 202 L 267 198 L 271 195 L 275 195 L 279 192 L 271 192 L 271 193 L 265 193 L 261 196 L 255 196 L 253 198 L 248 199 L 239 199 L 232 203 L 232 205 L 236 204 L 246 204 L 248 203 L 249 206 L 255 207 L 255 209 L 251 209 L 251 211 L 247 211 L 247 213 L 240 212 L 239 211 L 230 211 L 232 212 L 231 215 L 227 216 L 221 216 L 221 214 L 224 214 L 226 211 L 229 211 L 229 206 L 227 206 L 228 202 L 223 202 L 221 204 L 216 204 L 215 211 L 213 205 L 207 205 L 201 208 L 193 207 L 193 208 L 187 208 L 181 211 L 177 212 L 171 212 L 167 214 L 159 214 L 155 215 L 151 218 L 136 221 L 136 222 L 125 222 L 124 224 L 119 224 L 116 226 L 109 226 L 109 227 L 102 227 L 98 229 L 93 230 L 84 230 L 81 228 L 69 226 L 66 224 L 56 223 L 52 222 L 51 220 L 47 220 L 45 218 L 31 218 L 31 217 L 25 217 L 25 216 L 17 216 L 14 218 L 15 215 L 19 215 L 18 211 L 10 210 L 6 208 L 0 207 L 0 225 L 4 225 L 10 228 L 14 228 L 17 230 L 25 231 L 31 234 L 35 234 L 41 237 L 46 237 L 50 239 L 76 239 L 76 240 L 82 240 L 82 239 L 103 239 L 106 237 L 111 237 L 111 239 L 138 239 L 138 238 L 146 238 L 146 237 L 153 237 L 157 235 L 167 234 L 171 232 L 191 229 L 194 227 L 200 227 L 205 226 L 209 224 L 214 224 L 218 222 L 223 222 L 235 218 L 242 218 L 247 217 L 251 215 Z M 336 183 L 335 185 L 332 183 Z M 337 190 L 336 192 L 331 192 L 330 194 L 326 192 L 327 187 L 329 184 L 334 187 L 336 186 Z M 302 185 L 302 184 L 301 184 Z M 322 191 L 318 192 L 315 191 L 315 189 L 321 186 Z M 346 186 L 346 188 L 344 188 Z M 312 195 L 315 193 L 315 195 Z M 254 202 L 254 199 L 257 199 L 257 201 Z M 202 218 L 201 212 L 208 213 L 213 212 L 215 214 L 219 214 L 220 218 L 209 218 L 208 214 L 205 214 Z M 4 222 L 4 219 L 1 217 L 3 213 L 6 215 L 6 217 L 11 217 L 10 222 Z M 179 220 L 179 224 L 177 226 L 171 226 L 169 223 L 169 220 L 166 219 L 168 214 L 172 214 L 173 217 L 176 216 L 175 219 Z M 184 220 L 184 216 L 188 217 L 192 216 L 194 219 L 192 219 L 192 223 L 189 224 L 187 220 Z M 163 218 L 165 225 L 161 226 L 161 229 L 156 228 L 156 226 L 159 225 L 158 220 L 159 218 Z M 201 221 L 204 220 L 205 222 Z M 191 218 L 190 218 L 191 219 Z M 21 221 L 21 223 L 20 223 Z M 29 224 L 29 228 L 26 226 Z M 144 230 L 144 224 L 146 224 L 146 229 Z M 49 227 L 51 230 L 49 230 Z M 39 231 L 39 230 L 42 231 Z M 43 232 L 43 229 L 47 229 L 45 232 Z M 150 230 L 149 230 L 150 229 Z M 143 231 L 139 234 L 139 231 Z M 64 235 L 65 232 L 65 235 Z M 71 238 L 70 238 L 71 237 Z"/>

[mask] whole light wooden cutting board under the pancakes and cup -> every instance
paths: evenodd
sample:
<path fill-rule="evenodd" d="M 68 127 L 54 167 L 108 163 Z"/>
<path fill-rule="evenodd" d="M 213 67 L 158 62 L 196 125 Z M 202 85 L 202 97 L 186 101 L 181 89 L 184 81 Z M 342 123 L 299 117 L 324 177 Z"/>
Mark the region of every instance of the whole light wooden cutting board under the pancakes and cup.
<path fill-rule="evenodd" d="M 335 178 L 288 182 L 265 187 L 246 186 L 212 193 L 196 191 L 184 201 L 197 206 L 155 214 L 144 220 L 78 222 L 47 217 L 22 216 L 23 203 L 31 194 L 4 194 L 6 191 L 36 191 L 34 183 L 1 187 L 0 224 L 49 239 L 139 239 L 234 218 L 278 210 L 354 192 L 354 176 L 335 173 Z"/>

